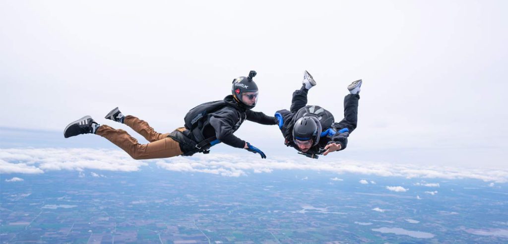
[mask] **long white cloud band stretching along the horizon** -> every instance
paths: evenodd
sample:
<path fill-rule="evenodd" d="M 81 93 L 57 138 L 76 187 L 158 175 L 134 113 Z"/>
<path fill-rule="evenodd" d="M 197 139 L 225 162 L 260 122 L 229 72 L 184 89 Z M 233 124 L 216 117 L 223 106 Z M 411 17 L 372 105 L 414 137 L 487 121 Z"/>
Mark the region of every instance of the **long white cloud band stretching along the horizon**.
<path fill-rule="evenodd" d="M 363 174 L 405 178 L 471 178 L 507 182 L 508 171 L 451 167 L 420 167 L 379 162 L 358 162 L 336 158 L 312 160 L 303 157 L 260 159 L 251 154 L 209 154 L 169 159 L 133 160 L 124 151 L 91 148 L 7 148 L 0 149 L 0 173 L 40 174 L 54 170 L 138 171 L 149 163 L 161 169 L 202 172 L 223 176 L 270 173 L 274 170 L 315 170 L 337 174 Z M 94 173 L 97 176 L 100 174 Z M 95 175 L 94 175 L 95 176 Z M 336 179 L 340 180 L 340 179 Z M 368 183 L 367 180 L 364 180 Z M 364 182 L 364 183 L 365 183 Z M 374 182 L 371 182 L 372 184 Z M 425 186 L 425 184 L 422 184 Z M 438 184 L 426 184 L 437 187 Z M 387 188 L 388 189 L 388 188 Z M 397 188 L 398 189 L 398 188 Z M 403 189 L 403 188 L 402 188 Z M 390 189 L 389 189 L 390 190 Z M 399 189 L 400 190 L 400 189 Z"/>

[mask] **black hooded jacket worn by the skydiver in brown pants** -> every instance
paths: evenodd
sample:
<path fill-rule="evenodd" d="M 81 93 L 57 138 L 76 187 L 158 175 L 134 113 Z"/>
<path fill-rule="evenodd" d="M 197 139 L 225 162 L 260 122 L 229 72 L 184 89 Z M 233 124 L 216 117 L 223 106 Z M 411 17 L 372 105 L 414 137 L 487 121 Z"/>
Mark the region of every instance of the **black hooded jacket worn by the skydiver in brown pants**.
<path fill-rule="evenodd" d="M 277 124 L 275 117 L 243 108 L 233 99 L 233 95 L 227 96 L 224 98 L 224 101 L 227 103 L 227 106 L 206 115 L 207 117 L 201 130 L 205 138 L 216 136 L 220 142 L 233 147 L 243 148 L 245 141 L 236 137 L 233 133 L 240 128 L 245 119 L 262 125 Z M 192 135 L 190 135 L 190 139 L 196 141 Z"/>

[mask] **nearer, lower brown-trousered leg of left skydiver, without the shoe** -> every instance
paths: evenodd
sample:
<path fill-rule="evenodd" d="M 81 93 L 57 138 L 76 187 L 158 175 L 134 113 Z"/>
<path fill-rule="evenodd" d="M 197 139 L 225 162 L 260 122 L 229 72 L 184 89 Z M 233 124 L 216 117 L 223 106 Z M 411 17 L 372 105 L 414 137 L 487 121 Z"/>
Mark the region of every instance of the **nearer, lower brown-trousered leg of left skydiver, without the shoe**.
<path fill-rule="evenodd" d="M 107 125 L 99 127 L 96 134 L 122 148 L 133 159 L 160 159 L 183 154 L 180 143 L 169 137 L 148 144 L 139 144 L 138 140 L 126 131 L 115 130 Z"/>

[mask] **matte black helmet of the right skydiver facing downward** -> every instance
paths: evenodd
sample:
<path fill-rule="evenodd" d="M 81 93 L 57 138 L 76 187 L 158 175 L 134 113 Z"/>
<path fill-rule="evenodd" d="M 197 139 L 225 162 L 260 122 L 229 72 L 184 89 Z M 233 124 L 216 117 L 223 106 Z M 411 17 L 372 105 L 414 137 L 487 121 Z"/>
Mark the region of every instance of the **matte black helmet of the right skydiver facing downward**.
<path fill-rule="evenodd" d="M 315 146 L 319 143 L 321 130 L 321 123 L 316 117 L 301 117 L 293 127 L 293 140 L 313 140 L 312 146 Z"/>

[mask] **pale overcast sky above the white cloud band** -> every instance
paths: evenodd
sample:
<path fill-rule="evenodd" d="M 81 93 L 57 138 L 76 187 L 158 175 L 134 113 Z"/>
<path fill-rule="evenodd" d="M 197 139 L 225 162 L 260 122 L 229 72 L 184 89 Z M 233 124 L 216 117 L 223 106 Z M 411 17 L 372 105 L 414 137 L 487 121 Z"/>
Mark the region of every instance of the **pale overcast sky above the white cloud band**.
<path fill-rule="evenodd" d="M 364 81 L 358 129 L 333 157 L 505 167 L 507 10 L 506 1 L 2 1 L 0 127 L 61 133 L 91 115 L 125 129 L 104 119 L 118 106 L 170 132 L 249 70 L 255 110 L 273 115 L 308 70 L 309 104 L 336 120 L 346 86 Z M 274 126 L 247 122 L 236 135 L 268 156 L 295 154 Z"/>

